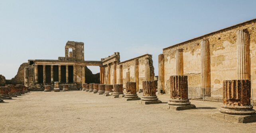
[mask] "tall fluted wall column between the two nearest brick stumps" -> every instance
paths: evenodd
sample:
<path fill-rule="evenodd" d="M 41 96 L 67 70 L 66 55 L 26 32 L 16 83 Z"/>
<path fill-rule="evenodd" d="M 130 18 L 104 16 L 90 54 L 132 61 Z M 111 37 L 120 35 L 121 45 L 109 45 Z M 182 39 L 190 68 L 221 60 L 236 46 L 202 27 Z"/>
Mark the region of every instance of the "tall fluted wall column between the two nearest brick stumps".
<path fill-rule="evenodd" d="M 201 93 L 211 97 L 211 62 L 210 44 L 208 39 L 201 41 Z"/>

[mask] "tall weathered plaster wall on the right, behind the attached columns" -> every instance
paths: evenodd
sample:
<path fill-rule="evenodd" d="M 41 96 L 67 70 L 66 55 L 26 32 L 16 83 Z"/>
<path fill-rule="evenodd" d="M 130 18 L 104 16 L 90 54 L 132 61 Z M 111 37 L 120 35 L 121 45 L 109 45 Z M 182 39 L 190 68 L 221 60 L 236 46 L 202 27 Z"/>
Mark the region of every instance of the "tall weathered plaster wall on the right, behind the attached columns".
<path fill-rule="evenodd" d="M 176 49 L 183 49 L 184 75 L 189 87 L 201 86 L 201 40 L 209 39 L 211 87 L 222 87 L 223 80 L 237 79 L 236 31 L 246 29 L 250 35 L 250 80 L 256 88 L 256 19 L 224 28 L 204 36 L 163 49 L 165 92 L 169 93 L 169 77 L 175 75 Z"/>

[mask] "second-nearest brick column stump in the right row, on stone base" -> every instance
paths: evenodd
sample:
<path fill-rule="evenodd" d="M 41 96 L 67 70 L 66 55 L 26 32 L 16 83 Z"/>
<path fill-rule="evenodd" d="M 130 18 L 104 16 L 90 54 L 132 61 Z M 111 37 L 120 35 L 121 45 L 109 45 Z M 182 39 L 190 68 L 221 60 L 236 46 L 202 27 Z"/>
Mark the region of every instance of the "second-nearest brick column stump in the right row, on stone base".
<path fill-rule="evenodd" d="M 170 76 L 169 109 L 187 110 L 195 108 L 188 99 L 187 76 Z"/>

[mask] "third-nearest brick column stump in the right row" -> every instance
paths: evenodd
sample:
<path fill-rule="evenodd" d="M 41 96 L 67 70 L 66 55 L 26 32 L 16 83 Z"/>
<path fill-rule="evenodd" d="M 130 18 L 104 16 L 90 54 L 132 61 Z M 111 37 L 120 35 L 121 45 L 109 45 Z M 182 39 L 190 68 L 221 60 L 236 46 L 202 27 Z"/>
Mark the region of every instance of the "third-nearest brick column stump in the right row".
<path fill-rule="evenodd" d="M 145 105 L 162 103 L 160 100 L 158 100 L 158 97 L 156 96 L 157 84 L 157 80 L 142 82 L 143 96 L 139 103 Z"/>

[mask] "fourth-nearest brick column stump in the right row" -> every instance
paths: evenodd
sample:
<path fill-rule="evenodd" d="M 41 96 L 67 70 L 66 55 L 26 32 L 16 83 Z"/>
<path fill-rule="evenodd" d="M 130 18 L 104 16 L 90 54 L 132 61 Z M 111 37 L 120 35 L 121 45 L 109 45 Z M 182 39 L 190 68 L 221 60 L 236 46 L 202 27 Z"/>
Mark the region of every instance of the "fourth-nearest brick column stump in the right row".
<path fill-rule="evenodd" d="M 124 100 L 140 100 L 136 91 L 136 82 L 126 82 L 126 93 L 124 95 Z"/>

